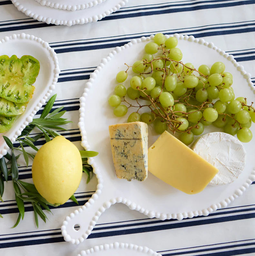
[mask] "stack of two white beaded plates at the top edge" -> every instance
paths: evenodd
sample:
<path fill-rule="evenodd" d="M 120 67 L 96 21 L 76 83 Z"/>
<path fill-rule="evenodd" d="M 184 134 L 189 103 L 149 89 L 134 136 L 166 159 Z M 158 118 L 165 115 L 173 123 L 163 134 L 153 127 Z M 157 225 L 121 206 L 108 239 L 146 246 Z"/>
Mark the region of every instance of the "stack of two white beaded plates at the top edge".
<path fill-rule="evenodd" d="M 11 0 L 25 15 L 47 24 L 72 26 L 95 22 L 123 7 L 128 0 Z"/>

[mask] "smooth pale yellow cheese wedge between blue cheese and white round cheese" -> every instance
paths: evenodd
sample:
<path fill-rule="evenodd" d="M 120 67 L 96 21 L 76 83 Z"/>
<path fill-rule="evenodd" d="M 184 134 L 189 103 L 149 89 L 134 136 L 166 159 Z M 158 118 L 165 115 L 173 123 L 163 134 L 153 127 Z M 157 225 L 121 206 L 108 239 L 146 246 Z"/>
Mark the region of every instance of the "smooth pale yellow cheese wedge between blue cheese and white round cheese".
<path fill-rule="evenodd" d="M 201 192 L 219 171 L 167 131 L 148 149 L 148 170 L 187 194 Z"/>

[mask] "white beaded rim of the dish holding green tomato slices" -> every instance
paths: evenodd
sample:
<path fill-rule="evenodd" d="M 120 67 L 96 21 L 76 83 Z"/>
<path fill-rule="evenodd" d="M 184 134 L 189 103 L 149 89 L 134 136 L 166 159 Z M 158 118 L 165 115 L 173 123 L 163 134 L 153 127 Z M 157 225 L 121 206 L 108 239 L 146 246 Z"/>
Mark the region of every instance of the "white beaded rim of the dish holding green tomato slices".
<path fill-rule="evenodd" d="M 55 89 L 55 85 L 57 83 L 58 80 L 58 76 L 59 76 L 59 66 L 58 66 L 58 58 L 56 53 L 54 52 L 54 50 L 49 46 L 49 44 L 47 42 L 45 42 L 44 40 L 42 40 L 40 37 L 36 37 L 33 35 L 28 35 L 25 33 L 21 33 L 21 34 L 13 34 L 12 36 L 5 36 L 1 41 L 0 41 L 0 45 L 3 43 L 8 43 L 9 40 L 16 40 L 16 39 L 25 39 L 25 40 L 31 40 L 31 41 L 35 41 L 36 43 L 40 44 L 41 46 L 43 46 L 46 50 L 48 50 L 48 52 L 50 53 L 50 56 L 52 58 L 52 61 L 54 63 L 54 77 L 52 82 L 49 82 L 48 85 L 48 90 L 45 93 L 45 95 L 40 99 L 40 101 L 37 103 L 37 105 L 34 107 L 34 109 L 29 110 L 29 113 L 27 113 L 27 116 L 25 118 L 25 121 L 23 122 L 23 124 L 20 125 L 19 128 L 17 128 L 14 136 L 12 138 L 9 138 L 12 142 L 15 142 L 16 138 L 21 134 L 21 132 L 23 131 L 23 129 L 33 120 L 34 115 L 36 114 L 36 112 L 43 106 L 43 104 L 45 104 L 47 98 L 51 95 L 51 93 L 54 91 Z M 39 99 L 38 99 L 39 100 Z M 7 150 L 9 149 L 9 147 L 7 146 L 7 144 L 5 143 L 4 148 L 2 148 L 0 150 L 0 157 L 6 155 Z"/>

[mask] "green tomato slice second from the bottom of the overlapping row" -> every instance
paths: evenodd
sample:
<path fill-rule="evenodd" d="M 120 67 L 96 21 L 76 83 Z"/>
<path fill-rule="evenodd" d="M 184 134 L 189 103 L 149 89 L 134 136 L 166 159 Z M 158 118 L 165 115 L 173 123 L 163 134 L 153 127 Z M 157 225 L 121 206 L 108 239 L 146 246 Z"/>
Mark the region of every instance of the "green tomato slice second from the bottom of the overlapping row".
<path fill-rule="evenodd" d="M 15 103 L 0 97 L 0 116 L 14 117 L 21 115 L 24 113 L 27 103 Z"/>

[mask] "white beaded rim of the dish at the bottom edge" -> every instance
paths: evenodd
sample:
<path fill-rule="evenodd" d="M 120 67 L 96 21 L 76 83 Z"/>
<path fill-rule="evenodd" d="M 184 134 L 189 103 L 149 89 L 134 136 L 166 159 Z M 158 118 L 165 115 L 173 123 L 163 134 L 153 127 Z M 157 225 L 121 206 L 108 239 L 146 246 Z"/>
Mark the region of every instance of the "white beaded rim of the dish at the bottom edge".
<path fill-rule="evenodd" d="M 145 253 L 147 255 L 162 256 L 161 254 L 157 253 L 156 251 L 153 251 L 152 249 L 150 249 L 146 246 L 139 246 L 139 245 L 132 244 L 132 243 L 119 243 L 119 242 L 96 245 L 90 249 L 81 251 L 77 256 L 85 256 L 85 255 L 92 254 L 93 252 L 108 251 L 111 249 L 128 249 L 128 250 L 132 250 L 132 251 L 139 251 L 139 252 Z"/>

